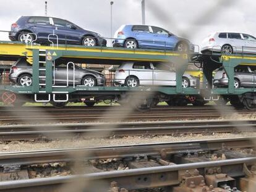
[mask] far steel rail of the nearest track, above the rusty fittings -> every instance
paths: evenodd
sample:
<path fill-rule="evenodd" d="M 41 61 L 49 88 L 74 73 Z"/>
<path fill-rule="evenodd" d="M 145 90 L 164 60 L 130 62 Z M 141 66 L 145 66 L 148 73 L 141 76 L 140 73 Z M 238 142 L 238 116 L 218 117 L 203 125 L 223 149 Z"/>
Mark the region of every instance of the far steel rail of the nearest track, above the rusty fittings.
<path fill-rule="evenodd" d="M 31 165 L 49 162 L 85 161 L 85 159 L 108 159 L 136 156 L 158 156 L 227 148 L 252 148 L 256 137 L 218 140 L 178 141 L 172 143 L 129 144 L 78 149 L 51 149 L 46 151 L 6 152 L 0 154 L 0 167 Z M 85 156 L 81 157 L 81 154 Z M 81 159 L 77 159 L 80 157 Z"/>

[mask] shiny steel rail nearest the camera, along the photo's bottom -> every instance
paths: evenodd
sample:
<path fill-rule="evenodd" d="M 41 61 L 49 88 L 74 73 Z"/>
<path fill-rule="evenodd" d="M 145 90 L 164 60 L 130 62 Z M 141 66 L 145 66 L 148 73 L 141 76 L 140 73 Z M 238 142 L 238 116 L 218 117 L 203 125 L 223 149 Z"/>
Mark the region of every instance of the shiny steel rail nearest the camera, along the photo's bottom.
<path fill-rule="evenodd" d="M 191 170 L 191 169 L 202 169 L 207 167 L 225 167 L 228 165 L 236 165 L 238 167 L 242 167 L 244 164 L 254 164 L 256 162 L 256 157 L 245 157 L 239 159 L 228 159 L 222 161 L 208 161 L 208 162 L 196 162 L 189 164 L 181 164 L 181 165 L 166 165 L 161 167 L 147 167 L 142 169 L 131 169 L 131 170 L 120 170 L 120 171 L 112 171 L 112 172 L 99 172 L 99 173 L 88 173 L 83 175 L 71 175 L 67 177 L 51 177 L 51 178 L 36 178 L 29 180 L 15 180 L 11 182 L 0 182 L 0 191 L 43 191 L 46 189 L 51 189 L 54 191 L 59 191 L 61 188 L 61 184 L 67 184 L 72 182 L 85 182 L 92 181 L 95 183 L 100 183 L 100 180 L 105 180 L 107 182 L 116 181 L 119 185 L 124 187 L 129 187 L 128 189 L 133 189 L 136 187 L 149 187 L 148 182 L 145 183 L 135 183 L 134 178 L 151 178 L 153 175 L 178 175 L 177 172 L 181 170 Z M 240 176 L 244 176 L 243 173 L 240 173 Z M 157 177 L 155 177 L 156 179 Z M 131 186 L 129 180 L 134 182 L 134 186 Z M 160 180 L 160 178 L 158 178 Z M 124 182 L 126 181 L 126 182 Z M 138 180 L 137 180 L 138 181 Z M 173 181 L 169 185 L 177 185 L 179 184 L 178 178 L 173 177 Z M 151 183 L 150 183 L 151 184 Z M 158 181 L 155 186 L 164 186 L 166 182 L 162 180 Z M 93 185 L 92 185 L 93 186 Z M 84 186 L 85 187 L 85 186 Z M 98 185 L 94 185 L 94 188 L 98 188 Z M 58 189 L 59 188 L 59 189 Z M 88 186 L 87 186 L 88 189 Z M 105 188 L 106 190 L 106 188 Z"/>

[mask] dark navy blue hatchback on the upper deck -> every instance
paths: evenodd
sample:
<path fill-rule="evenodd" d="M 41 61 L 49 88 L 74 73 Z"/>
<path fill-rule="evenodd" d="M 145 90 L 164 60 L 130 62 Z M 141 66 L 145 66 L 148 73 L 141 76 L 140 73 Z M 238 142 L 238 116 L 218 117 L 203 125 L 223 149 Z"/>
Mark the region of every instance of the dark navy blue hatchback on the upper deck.
<path fill-rule="evenodd" d="M 58 35 L 59 44 L 82 44 L 84 46 L 106 46 L 106 40 L 93 31 L 84 30 L 67 20 L 54 17 L 22 16 L 12 24 L 9 38 L 12 41 L 48 43 L 49 34 Z M 51 41 L 57 37 L 50 35 Z"/>

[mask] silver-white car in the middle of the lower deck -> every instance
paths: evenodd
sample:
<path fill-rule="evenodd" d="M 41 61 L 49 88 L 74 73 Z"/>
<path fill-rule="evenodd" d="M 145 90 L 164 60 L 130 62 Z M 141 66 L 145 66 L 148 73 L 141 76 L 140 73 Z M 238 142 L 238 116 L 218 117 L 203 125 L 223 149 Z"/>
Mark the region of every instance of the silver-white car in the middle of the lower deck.
<path fill-rule="evenodd" d="M 184 74 L 182 87 L 197 86 L 198 78 Z M 114 85 L 135 87 L 139 85 L 176 86 L 176 72 L 168 64 L 159 62 L 124 62 L 114 77 Z"/>

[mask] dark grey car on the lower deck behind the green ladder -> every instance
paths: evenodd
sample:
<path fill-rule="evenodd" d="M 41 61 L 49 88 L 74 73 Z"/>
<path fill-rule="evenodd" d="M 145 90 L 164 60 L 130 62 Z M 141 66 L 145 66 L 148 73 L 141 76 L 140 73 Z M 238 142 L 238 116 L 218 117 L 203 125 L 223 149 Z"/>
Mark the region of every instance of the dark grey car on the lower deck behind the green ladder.
<path fill-rule="evenodd" d="M 67 85 L 67 65 L 56 65 L 53 73 L 54 85 Z M 28 64 L 25 59 L 19 59 L 11 67 L 9 79 L 12 83 L 30 86 L 32 85 L 32 65 Z M 73 85 L 73 71 L 72 65 L 69 65 L 69 85 Z M 45 76 L 45 71 L 40 71 L 40 76 Z M 95 70 L 82 69 L 75 65 L 75 85 L 85 86 L 104 86 L 106 82 L 105 76 L 96 72 Z M 40 83 L 45 83 L 44 78 L 40 78 Z"/>

